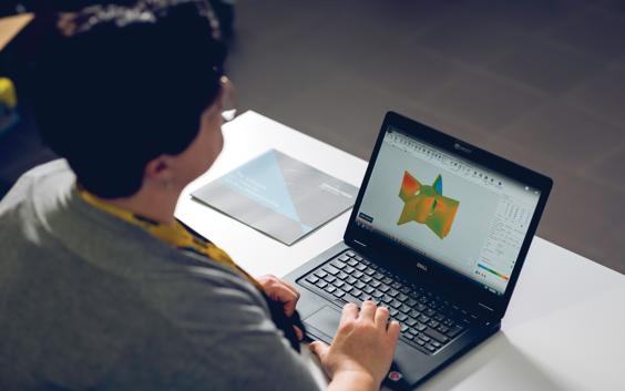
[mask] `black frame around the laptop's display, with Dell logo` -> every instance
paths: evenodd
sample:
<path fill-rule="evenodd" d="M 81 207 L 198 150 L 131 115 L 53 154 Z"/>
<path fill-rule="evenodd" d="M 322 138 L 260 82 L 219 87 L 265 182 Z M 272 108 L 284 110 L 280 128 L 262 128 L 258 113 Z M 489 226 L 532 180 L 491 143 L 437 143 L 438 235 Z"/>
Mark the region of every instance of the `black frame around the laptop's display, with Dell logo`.
<path fill-rule="evenodd" d="M 470 162 L 501 173 L 509 178 L 515 179 L 526 186 L 531 186 L 532 188 L 540 191 L 540 198 L 536 208 L 503 295 L 493 294 L 489 289 L 484 289 L 483 285 L 475 282 L 469 277 L 463 276 L 460 272 L 428 258 L 427 256 L 417 254 L 402 246 L 393 246 L 393 241 L 390 239 L 359 227 L 356 224 L 357 214 L 360 209 L 365 191 L 369 184 L 375 162 L 377 161 L 385 134 L 387 133 L 389 126 L 392 126 L 393 128 L 412 136 L 418 141 L 438 147 L 441 151 L 463 157 Z M 501 319 L 505 313 L 510 298 L 512 297 L 512 292 L 516 285 L 516 280 L 519 279 L 521 268 L 525 261 L 552 186 L 553 182 L 547 176 L 525 168 L 503 157 L 496 156 L 464 141 L 443 134 L 428 125 L 402 116 L 401 114 L 388 112 L 385 116 L 373 152 L 371 153 L 371 158 L 354 205 L 344 240 L 351 247 L 373 257 L 373 259 L 382 259 L 387 266 L 397 269 L 409 279 L 436 286 L 438 289 L 457 298 L 470 308 L 485 311 L 489 316 Z M 420 265 L 417 266 L 417 263 Z"/>

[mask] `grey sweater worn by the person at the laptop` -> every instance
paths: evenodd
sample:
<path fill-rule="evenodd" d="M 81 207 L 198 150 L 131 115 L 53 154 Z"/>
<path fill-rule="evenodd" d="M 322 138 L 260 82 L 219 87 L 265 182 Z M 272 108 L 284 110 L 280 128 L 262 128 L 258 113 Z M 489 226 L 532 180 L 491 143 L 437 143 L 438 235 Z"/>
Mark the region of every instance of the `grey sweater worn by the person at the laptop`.
<path fill-rule="evenodd" d="M 0 203 L 0 390 L 317 389 L 248 281 L 73 184 L 55 161 Z"/>

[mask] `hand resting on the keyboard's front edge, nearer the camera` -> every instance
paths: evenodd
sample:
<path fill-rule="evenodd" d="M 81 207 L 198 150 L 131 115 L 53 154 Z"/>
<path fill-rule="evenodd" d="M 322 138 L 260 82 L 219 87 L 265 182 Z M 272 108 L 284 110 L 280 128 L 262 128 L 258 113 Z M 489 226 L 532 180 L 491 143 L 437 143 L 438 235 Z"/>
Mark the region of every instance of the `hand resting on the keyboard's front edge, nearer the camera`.
<path fill-rule="evenodd" d="M 388 323 L 388 308 L 372 301 L 365 301 L 360 310 L 355 303 L 347 303 L 332 344 L 315 341 L 310 350 L 319 357 L 330 379 L 356 378 L 365 383 L 370 380 L 377 389 L 387 375 L 399 338 L 399 323 Z"/>

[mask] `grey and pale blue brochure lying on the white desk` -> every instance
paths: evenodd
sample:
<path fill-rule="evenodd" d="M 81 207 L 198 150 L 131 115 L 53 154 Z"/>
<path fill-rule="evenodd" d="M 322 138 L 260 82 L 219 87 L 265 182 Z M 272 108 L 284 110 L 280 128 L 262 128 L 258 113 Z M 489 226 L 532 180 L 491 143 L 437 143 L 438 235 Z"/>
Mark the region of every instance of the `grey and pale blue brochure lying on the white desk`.
<path fill-rule="evenodd" d="M 192 196 L 286 245 L 354 206 L 358 188 L 270 150 Z"/>

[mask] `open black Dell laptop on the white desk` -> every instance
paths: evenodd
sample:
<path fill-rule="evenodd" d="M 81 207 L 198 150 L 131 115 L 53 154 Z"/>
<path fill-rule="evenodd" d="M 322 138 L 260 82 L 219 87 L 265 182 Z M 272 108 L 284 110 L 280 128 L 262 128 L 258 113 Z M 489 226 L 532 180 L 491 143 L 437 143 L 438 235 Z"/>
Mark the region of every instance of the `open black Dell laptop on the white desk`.
<path fill-rule="evenodd" d="M 401 325 L 385 381 L 412 389 L 500 329 L 552 179 L 387 113 L 344 240 L 290 272 L 308 337 L 346 302 Z"/>

